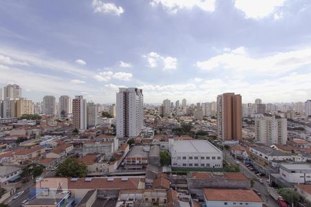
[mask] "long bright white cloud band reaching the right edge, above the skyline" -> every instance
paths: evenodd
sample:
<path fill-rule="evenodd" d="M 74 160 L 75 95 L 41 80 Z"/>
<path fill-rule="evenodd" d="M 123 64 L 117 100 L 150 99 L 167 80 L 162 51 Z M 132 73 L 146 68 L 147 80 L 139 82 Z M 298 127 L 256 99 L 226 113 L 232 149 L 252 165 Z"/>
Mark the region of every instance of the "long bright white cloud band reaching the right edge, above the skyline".
<path fill-rule="evenodd" d="M 311 48 L 294 50 L 290 52 L 278 52 L 265 57 L 250 57 L 245 48 L 237 48 L 232 52 L 211 57 L 207 61 L 197 61 L 195 66 L 201 70 L 230 69 L 234 72 L 249 71 L 252 74 L 265 72 L 266 75 L 274 75 L 290 70 L 296 70 L 301 66 L 311 66 Z M 257 72 L 257 73 L 256 73 Z"/>

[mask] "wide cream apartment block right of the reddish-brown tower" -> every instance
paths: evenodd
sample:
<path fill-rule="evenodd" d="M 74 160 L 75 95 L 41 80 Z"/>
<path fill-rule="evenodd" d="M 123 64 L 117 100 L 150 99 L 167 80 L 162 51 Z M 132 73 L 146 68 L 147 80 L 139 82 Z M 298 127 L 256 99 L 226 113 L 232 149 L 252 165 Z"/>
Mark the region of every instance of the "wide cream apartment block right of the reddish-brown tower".
<path fill-rule="evenodd" d="M 255 119 L 255 139 L 267 146 L 286 144 L 288 141 L 287 119 L 276 119 L 275 116 Z"/>

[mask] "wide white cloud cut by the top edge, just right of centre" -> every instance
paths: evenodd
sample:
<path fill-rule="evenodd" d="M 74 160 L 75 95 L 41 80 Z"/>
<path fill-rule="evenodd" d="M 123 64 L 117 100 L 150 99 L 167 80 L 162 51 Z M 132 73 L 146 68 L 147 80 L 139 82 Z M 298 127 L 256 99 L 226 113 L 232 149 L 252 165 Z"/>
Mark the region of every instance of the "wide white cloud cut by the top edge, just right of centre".
<path fill-rule="evenodd" d="M 152 0 L 151 6 L 161 5 L 167 12 L 176 14 L 178 10 L 192 9 L 198 7 L 201 10 L 213 12 L 215 10 L 216 0 Z"/>

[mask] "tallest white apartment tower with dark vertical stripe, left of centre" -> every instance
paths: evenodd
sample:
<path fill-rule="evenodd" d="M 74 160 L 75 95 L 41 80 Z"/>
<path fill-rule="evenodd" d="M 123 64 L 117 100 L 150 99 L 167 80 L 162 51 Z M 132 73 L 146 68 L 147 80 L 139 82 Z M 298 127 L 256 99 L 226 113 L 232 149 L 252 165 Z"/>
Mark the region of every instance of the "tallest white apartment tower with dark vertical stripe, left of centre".
<path fill-rule="evenodd" d="M 117 92 L 117 137 L 140 135 L 144 119 L 144 96 L 139 88 L 119 88 Z"/>

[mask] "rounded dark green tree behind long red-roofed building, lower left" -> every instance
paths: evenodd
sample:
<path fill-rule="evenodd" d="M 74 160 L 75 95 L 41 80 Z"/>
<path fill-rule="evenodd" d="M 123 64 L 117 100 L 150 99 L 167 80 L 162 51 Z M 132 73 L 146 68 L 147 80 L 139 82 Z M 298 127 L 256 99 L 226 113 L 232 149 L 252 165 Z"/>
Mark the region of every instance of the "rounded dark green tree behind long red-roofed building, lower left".
<path fill-rule="evenodd" d="M 88 167 L 76 158 L 67 158 L 56 170 L 57 177 L 86 177 Z"/>

